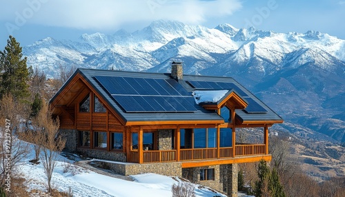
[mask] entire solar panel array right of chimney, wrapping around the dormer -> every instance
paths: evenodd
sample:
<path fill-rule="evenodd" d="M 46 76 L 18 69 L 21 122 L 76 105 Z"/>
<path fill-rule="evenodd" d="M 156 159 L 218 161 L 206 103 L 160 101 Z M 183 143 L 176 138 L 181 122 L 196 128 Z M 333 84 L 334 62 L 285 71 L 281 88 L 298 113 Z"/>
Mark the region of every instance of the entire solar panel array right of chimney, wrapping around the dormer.
<path fill-rule="evenodd" d="M 259 105 L 253 98 L 250 98 L 235 83 L 215 82 L 215 81 L 188 81 L 197 90 L 235 90 L 240 96 L 248 101 L 248 107 L 244 109 L 248 114 L 264 114 L 267 113 L 262 105 Z"/>

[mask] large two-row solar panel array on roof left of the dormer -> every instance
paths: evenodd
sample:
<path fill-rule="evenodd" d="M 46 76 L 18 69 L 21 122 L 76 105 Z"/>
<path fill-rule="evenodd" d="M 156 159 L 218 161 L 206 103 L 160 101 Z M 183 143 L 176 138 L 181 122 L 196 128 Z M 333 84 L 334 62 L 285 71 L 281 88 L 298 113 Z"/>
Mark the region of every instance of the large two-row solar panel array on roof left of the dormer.
<path fill-rule="evenodd" d="M 95 76 L 126 112 L 195 112 L 190 92 L 174 79 Z"/>

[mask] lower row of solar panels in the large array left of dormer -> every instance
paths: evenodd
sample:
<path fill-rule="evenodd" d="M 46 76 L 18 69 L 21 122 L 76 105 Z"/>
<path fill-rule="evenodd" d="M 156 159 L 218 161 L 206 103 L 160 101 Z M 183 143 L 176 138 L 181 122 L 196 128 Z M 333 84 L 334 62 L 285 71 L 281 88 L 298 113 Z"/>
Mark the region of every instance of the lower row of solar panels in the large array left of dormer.
<path fill-rule="evenodd" d="M 126 112 L 195 112 L 197 109 L 182 96 L 112 95 Z"/>

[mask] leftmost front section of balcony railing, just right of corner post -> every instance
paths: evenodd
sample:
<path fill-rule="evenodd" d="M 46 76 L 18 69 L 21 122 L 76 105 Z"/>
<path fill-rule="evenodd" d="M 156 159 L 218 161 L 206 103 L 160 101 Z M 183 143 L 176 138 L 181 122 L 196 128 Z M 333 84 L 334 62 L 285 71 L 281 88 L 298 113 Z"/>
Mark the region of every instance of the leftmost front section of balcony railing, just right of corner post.
<path fill-rule="evenodd" d="M 144 151 L 144 163 L 176 161 L 176 150 Z"/>

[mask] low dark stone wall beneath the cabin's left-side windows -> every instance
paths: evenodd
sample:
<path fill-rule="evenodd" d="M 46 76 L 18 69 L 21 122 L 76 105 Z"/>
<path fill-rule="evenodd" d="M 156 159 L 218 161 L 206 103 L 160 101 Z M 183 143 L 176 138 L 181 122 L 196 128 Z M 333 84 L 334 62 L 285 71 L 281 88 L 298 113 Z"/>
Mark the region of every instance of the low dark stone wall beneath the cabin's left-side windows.
<path fill-rule="evenodd" d="M 107 152 L 104 150 L 83 149 L 83 148 L 78 148 L 77 152 L 91 158 L 102 158 L 106 160 L 115 160 L 115 161 L 121 161 L 121 162 L 126 162 L 127 160 L 126 153 L 124 152 Z"/>

